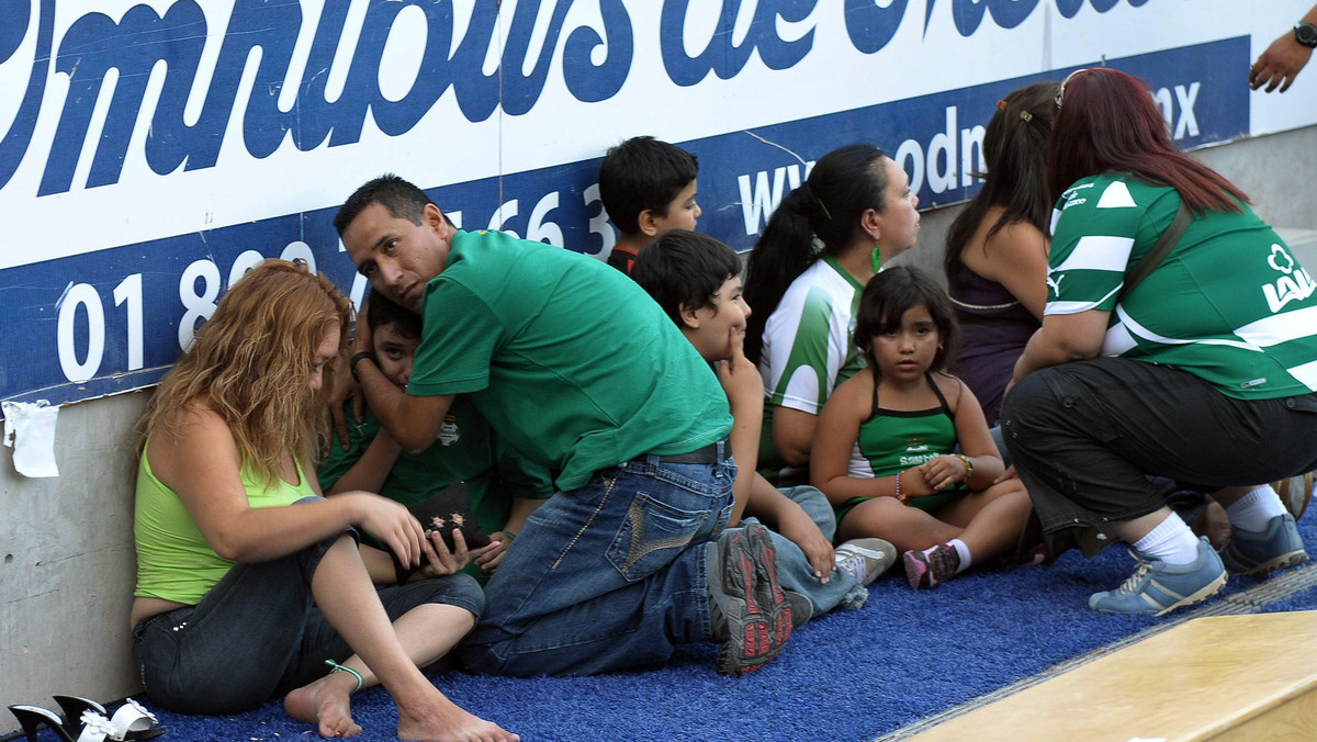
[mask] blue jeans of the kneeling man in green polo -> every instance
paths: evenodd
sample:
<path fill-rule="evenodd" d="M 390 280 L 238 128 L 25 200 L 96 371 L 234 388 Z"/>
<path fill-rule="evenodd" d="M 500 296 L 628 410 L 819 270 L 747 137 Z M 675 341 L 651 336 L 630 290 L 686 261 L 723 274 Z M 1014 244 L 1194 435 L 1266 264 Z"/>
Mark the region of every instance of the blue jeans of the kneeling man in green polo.
<path fill-rule="evenodd" d="M 731 515 L 736 465 L 643 456 L 560 492 L 527 522 L 461 646 L 473 671 L 589 675 L 712 639 L 706 544 Z"/>

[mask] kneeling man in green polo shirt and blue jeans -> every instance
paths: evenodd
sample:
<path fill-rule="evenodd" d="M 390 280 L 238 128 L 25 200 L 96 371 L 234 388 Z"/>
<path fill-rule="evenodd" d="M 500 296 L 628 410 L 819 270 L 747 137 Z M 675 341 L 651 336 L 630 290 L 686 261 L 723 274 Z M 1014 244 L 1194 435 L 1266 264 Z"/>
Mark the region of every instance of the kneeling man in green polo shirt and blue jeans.
<path fill-rule="evenodd" d="M 772 540 L 719 538 L 735 478 L 726 397 L 644 291 L 569 250 L 457 231 L 394 175 L 358 188 L 335 227 L 374 290 L 421 315 L 406 393 L 358 327 L 352 369 L 389 432 L 429 445 L 464 394 L 554 473 L 486 588 L 469 667 L 579 675 L 718 641 L 719 671 L 741 675 L 781 651 L 792 605 Z"/>

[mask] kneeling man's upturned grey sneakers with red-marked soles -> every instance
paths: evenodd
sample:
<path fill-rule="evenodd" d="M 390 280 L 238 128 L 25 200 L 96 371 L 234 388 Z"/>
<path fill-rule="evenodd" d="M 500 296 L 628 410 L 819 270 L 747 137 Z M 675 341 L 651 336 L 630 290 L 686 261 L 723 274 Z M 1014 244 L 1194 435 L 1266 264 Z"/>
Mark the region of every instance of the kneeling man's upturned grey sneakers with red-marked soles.
<path fill-rule="evenodd" d="M 777 584 L 768 528 L 753 525 L 724 532 L 714 544 L 707 569 L 711 613 L 722 618 L 715 627 L 723 642 L 718 672 L 736 676 L 759 670 L 781 654 L 794 613 Z"/>

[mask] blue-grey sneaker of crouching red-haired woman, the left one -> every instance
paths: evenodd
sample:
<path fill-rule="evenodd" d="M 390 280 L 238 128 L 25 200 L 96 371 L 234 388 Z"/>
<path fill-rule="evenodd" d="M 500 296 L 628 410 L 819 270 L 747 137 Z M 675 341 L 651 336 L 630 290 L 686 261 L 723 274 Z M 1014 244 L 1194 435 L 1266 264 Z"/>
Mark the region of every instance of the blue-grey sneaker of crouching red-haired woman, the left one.
<path fill-rule="evenodd" d="M 1226 585 L 1226 568 L 1204 536 L 1198 557 L 1191 564 L 1167 564 L 1130 550 L 1139 567 L 1119 588 L 1093 593 L 1088 606 L 1098 613 L 1163 615 L 1202 602 Z"/>

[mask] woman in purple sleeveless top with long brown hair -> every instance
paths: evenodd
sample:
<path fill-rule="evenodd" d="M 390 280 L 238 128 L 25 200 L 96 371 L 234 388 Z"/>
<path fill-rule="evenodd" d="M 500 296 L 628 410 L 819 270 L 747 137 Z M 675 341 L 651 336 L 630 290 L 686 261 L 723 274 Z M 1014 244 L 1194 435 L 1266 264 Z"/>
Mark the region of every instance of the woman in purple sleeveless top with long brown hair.
<path fill-rule="evenodd" d="M 964 333 L 954 373 L 982 403 L 989 426 L 1047 302 L 1047 137 L 1056 87 L 1034 83 L 997 103 L 984 133 L 982 190 L 947 235 L 943 266 Z"/>

